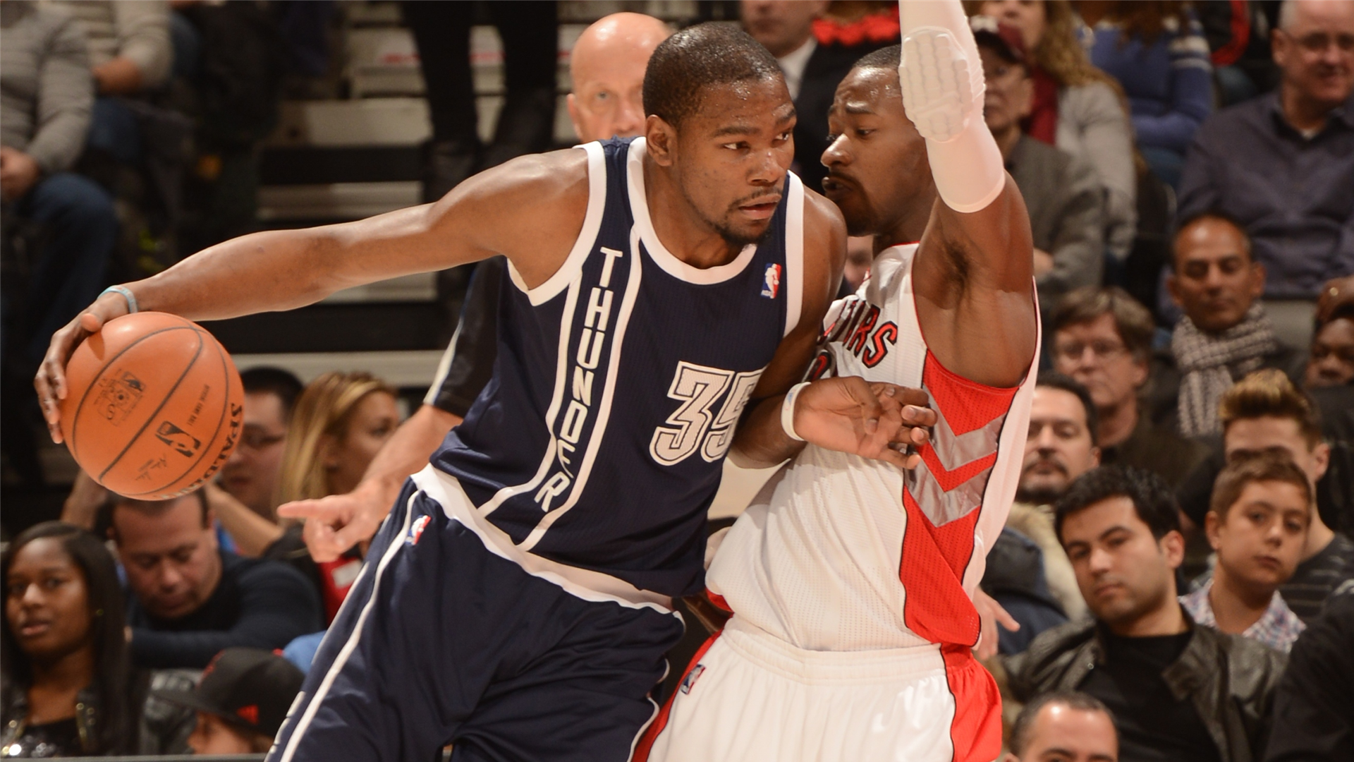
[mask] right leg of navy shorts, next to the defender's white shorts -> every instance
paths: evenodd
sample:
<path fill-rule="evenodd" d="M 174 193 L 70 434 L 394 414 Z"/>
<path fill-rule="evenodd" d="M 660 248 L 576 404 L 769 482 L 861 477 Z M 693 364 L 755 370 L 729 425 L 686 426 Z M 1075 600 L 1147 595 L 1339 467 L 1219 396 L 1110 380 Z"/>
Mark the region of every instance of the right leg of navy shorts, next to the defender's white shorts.
<path fill-rule="evenodd" d="M 582 616 L 574 609 L 582 607 Z M 569 633 L 520 673 L 496 679 L 455 736 L 455 762 L 626 762 L 658 705 L 670 613 L 574 601 Z"/>

